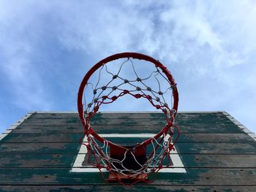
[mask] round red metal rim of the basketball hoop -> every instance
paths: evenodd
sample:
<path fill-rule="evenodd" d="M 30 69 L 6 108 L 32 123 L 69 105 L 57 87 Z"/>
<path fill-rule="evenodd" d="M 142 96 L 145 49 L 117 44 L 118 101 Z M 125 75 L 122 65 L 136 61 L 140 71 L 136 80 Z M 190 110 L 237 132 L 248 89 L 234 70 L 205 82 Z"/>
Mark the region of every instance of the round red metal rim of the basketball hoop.
<path fill-rule="evenodd" d="M 167 76 L 167 79 L 170 81 L 170 84 L 173 85 L 173 109 L 172 110 L 175 110 L 177 112 L 177 110 L 178 110 L 178 90 L 176 88 L 176 82 L 173 79 L 173 76 L 170 74 L 169 70 L 163 64 L 161 64 L 156 59 L 151 58 L 148 55 L 143 55 L 141 53 L 117 53 L 115 55 L 110 55 L 107 58 L 102 59 L 102 61 L 99 61 L 97 64 L 95 64 L 89 70 L 89 72 L 87 72 L 85 77 L 83 77 L 83 80 L 80 84 L 79 91 L 78 91 L 78 113 L 79 113 L 80 120 L 84 127 L 86 127 L 86 122 L 83 118 L 83 91 L 84 91 L 84 88 L 86 87 L 86 83 L 88 82 L 89 78 L 91 77 L 91 74 L 93 74 L 95 71 L 97 71 L 97 69 L 99 69 L 99 67 L 101 67 L 103 64 L 108 64 L 110 61 L 114 61 L 118 58 L 141 59 L 144 61 L 149 61 L 149 62 L 155 64 L 155 66 L 162 69 L 162 72 Z M 175 115 L 176 115 L 176 113 L 174 113 L 174 116 Z M 154 138 L 158 138 L 164 130 L 165 130 L 165 128 L 163 128 L 161 131 L 159 131 L 159 133 Z M 96 139 L 98 139 L 99 142 L 104 142 L 105 139 L 100 137 L 92 128 L 91 128 L 90 132 L 91 132 L 90 134 L 93 135 Z M 144 142 L 144 145 L 146 145 L 146 143 L 148 143 L 148 142 L 150 142 L 150 141 L 146 140 L 146 142 Z"/>

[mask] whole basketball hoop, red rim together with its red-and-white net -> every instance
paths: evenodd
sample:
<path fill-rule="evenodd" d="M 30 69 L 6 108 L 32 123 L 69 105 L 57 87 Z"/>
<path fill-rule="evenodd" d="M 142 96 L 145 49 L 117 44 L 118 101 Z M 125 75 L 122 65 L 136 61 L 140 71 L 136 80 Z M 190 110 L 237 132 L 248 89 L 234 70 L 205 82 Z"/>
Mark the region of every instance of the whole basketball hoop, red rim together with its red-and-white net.
<path fill-rule="evenodd" d="M 116 72 L 111 72 L 112 65 L 119 65 L 114 67 Z M 129 65 L 128 69 L 134 76 L 130 77 L 131 79 L 121 74 L 121 70 L 126 65 Z M 136 70 L 136 66 L 140 67 L 140 65 L 154 70 L 146 77 L 140 77 Z M 109 80 L 106 80 L 107 76 Z M 105 84 L 101 85 L 101 81 Z M 155 82 L 156 86 L 151 82 Z M 167 88 L 162 90 L 162 84 L 167 85 Z M 165 99 L 166 94 L 169 94 L 170 102 Z M 91 118 L 99 112 L 102 105 L 111 104 L 124 96 L 146 99 L 154 108 L 162 110 L 166 117 L 166 124 L 162 130 L 159 130 L 154 137 L 137 145 L 118 145 L 100 137 L 90 125 Z M 176 82 L 159 61 L 140 53 L 118 53 L 99 61 L 83 78 L 78 92 L 78 112 L 84 126 L 83 137 L 88 141 L 88 143 L 81 143 L 87 147 L 89 164 L 97 167 L 104 178 L 102 169 L 106 169 L 109 172 L 106 180 L 118 181 L 125 186 L 148 182 L 149 174 L 173 165 L 170 152 L 174 150 L 174 143 L 179 136 L 178 128 L 174 124 L 177 109 Z M 175 130 L 177 134 L 173 138 Z M 148 152 L 148 150 L 151 151 Z M 167 161 L 165 166 L 164 160 Z"/>

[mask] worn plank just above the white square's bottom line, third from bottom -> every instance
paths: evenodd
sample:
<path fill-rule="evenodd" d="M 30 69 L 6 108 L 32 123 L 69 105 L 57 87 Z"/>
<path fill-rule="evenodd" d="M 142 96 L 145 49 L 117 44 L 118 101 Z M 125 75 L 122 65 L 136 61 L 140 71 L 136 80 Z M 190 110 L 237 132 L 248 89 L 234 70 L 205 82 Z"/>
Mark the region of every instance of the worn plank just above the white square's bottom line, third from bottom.
<path fill-rule="evenodd" d="M 71 168 L 76 154 L 0 155 L 1 168 Z M 181 154 L 186 168 L 255 168 L 256 154 Z M 86 157 L 87 159 L 87 157 Z M 173 166 L 176 167 L 176 166 Z"/>

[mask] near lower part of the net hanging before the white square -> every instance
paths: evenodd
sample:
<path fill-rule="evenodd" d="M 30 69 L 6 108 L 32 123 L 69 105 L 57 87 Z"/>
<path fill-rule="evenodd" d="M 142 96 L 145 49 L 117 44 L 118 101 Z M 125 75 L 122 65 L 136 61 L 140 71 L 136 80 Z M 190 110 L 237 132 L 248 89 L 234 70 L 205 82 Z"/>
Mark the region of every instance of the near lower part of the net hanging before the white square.
<path fill-rule="evenodd" d="M 173 142 L 170 139 L 170 134 L 163 134 L 159 139 L 151 139 L 149 145 L 143 146 L 145 153 L 140 151 L 140 155 L 136 153 L 141 150 L 138 149 L 141 148 L 141 145 L 126 146 L 127 148 L 124 147 L 124 153 L 113 158 L 110 155 L 108 140 L 99 143 L 89 134 L 89 151 L 90 155 L 93 155 L 93 158 L 89 158 L 89 164 L 98 166 L 100 169 L 104 168 L 108 171 L 118 172 L 131 178 L 136 178 L 139 174 L 150 174 L 151 172 L 156 172 L 159 168 L 163 168 L 162 163 L 165 155 L 170 153 L 170 150 L 173 150 Z M 165 164 L 166 166 L 172 165 L 169 157 L 165 160 Z"/>

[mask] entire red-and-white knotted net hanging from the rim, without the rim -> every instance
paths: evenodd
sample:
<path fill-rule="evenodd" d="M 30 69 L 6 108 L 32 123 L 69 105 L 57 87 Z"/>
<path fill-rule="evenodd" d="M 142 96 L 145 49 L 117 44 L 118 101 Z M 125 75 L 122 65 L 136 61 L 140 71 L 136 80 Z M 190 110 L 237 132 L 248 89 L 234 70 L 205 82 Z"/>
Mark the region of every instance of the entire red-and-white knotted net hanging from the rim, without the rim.
<path fill-rule="evenodd" d="M 121 178 L 135 182 L 147 180 L 149 174 L 172 166 L 170 151 L 173 150 L 179 134 L 177 131 L 177 137 L 173 139 L 176 129 L 173 124 L 176 115 L 176 110 L 173 109 L 174 89 L 176 85 L 170 82 L 162 69 L 149 61 L 120 58 L 103 64 L 91 75 L 83 90 L 83 120 L 86 122 L 85 137 L 88 139 L 86 147 L 89 164 L 99 170 L 107 169 L 119 182 Z M 95 138 L 95 135 L 91 134 L 93 129 L 90 118 L 97 114 L 99 108 L 108 109 L 109 104 L 116 104 L 120 98 L 124 99 L 124 96 L 132 96 L 135 98 L 133 100 L 144 99 L 149 101 L 151 107 L 162 110 L 167 122 L 162 131 L 159 130 L 155 137 L 136 145 L 116 145 L 107 139 Z M 129 100 L 128 105 L 131 106 L 132 101 Z M 138 105 L 140 102 L 135 104 L 136 107 Z M 116 106 L 122 110 L 125 107 L 124 104 Z"/>

